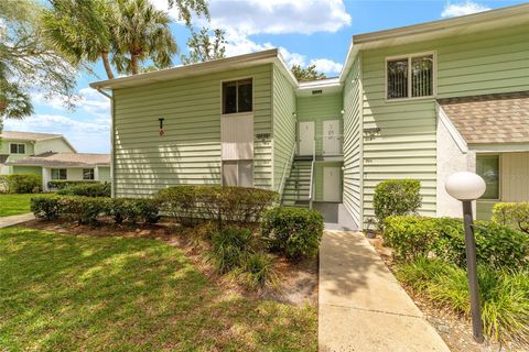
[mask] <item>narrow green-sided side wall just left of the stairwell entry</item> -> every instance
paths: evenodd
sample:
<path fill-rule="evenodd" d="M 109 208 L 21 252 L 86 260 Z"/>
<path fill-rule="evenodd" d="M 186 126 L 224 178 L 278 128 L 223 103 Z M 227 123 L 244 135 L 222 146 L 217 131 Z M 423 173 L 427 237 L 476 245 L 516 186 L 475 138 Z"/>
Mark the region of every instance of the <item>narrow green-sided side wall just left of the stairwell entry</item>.
<path fill-rule="evenodd" d="M 278 67 L 273 67 L 273 188 L 280 190 L 283 174 L 295 143 L 295 94 L 290 81 Z"/>

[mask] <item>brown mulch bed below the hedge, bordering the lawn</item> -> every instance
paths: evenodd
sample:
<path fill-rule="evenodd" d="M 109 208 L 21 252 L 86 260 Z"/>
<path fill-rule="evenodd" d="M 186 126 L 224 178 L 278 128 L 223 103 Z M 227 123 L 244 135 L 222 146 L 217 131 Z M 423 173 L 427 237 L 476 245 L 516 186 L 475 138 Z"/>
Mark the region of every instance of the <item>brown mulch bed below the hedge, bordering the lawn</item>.
<path fill-rule="evenodd" d="M 284 257 L 276 256 L 276 270 L 279 277 L 278 287 L 267 287 L 259 292 L 249 292 L 227 276 L 218 275 L 205 260 L 208 243 L 201 239 L 205 229 L 182 228 L 174 222 L 163 220 L 156 224 L 116 224 L 110 219 L 98 226 L 79 226 L 65 220 L 31 220 L 21 227 L 51 231 L 71 235 L 125 237 L 164 241 L 182 250 L 198 270 L 210 280 L 226 290 L 237 292 L 256 299 L 274 299 L 295 306 L 317 305 L 317 257 L 291 263 Z"/>

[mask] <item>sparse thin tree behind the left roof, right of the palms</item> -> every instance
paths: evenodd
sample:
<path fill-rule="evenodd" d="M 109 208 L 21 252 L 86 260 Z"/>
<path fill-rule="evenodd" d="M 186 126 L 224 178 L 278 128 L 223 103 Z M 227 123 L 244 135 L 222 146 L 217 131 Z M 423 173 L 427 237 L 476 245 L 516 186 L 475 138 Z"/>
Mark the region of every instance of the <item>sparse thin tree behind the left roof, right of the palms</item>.
<path fill-rule="evenodd" d="M 184 65 L 226 57 L 226 32 L 218 29 L 213 30 L 213 33 L 210 32 L 208 28 L 202 28 L 199 32 L 192 30 L 191 37 L 187 41 L 190 54 L 180 57 Z"/>

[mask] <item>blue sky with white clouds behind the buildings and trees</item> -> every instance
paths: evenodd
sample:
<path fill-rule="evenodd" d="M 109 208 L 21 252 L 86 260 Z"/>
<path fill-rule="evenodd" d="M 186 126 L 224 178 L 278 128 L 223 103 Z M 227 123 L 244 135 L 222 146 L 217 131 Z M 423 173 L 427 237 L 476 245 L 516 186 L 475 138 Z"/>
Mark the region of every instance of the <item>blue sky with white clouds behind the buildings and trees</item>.
<path fill-rule="evenodd" d="M 151 0 L 165 10 L 166 0 Z M 391 29 L 522 3 L 523 1 L 353 1 L 353 0 L 210 0 L 210 28 L 227 32 L 228 56 L 280 47 L 289 64 L 315 64 L 327 76 L 336 76 L 347 54 L 353 34 Z M 172 15 L 176 15 L 170 12 Z M 198 21 L 199 22 L 199 21 Z M 197 22 L 197 24 L 199 24 Z M 188 30 L 172 25 L 185 53 Z M 177 57 L 174 64 L 179 65 Z M 4 130 L 64 134 L 84 153 L 109 153 L 109 102 L 88 84 L 105 79 L 79 73 L 79 100 L 74 111 L 61 99 L 34 95 L 34 116 L 22 121 L 4 121 Z"/>

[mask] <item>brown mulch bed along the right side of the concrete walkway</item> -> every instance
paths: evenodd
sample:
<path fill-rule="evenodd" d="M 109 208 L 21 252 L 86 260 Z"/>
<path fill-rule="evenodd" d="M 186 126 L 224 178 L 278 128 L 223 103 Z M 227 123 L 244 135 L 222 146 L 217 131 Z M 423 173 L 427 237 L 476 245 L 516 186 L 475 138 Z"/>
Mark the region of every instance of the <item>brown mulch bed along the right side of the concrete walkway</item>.
<path fill-rule="evenodd" d="M 368 239 L 382 261 L 391 272 L 395 271 L 395 263 L 391 249 L 384 246 L 382 239 L 377 235 Z M 412 288 L 402 284 L 408 295 L 424 314 L 424 318 L 435 328 L 438 333 L 453 352 L 527 352 L 529 345 L 521 345 L 518 342 L 498 343 L 485 341 L 478 344 L 472 336 L 472 321 L 453 311 L 435 306 L 431 300 L 418 295 Z"/>

